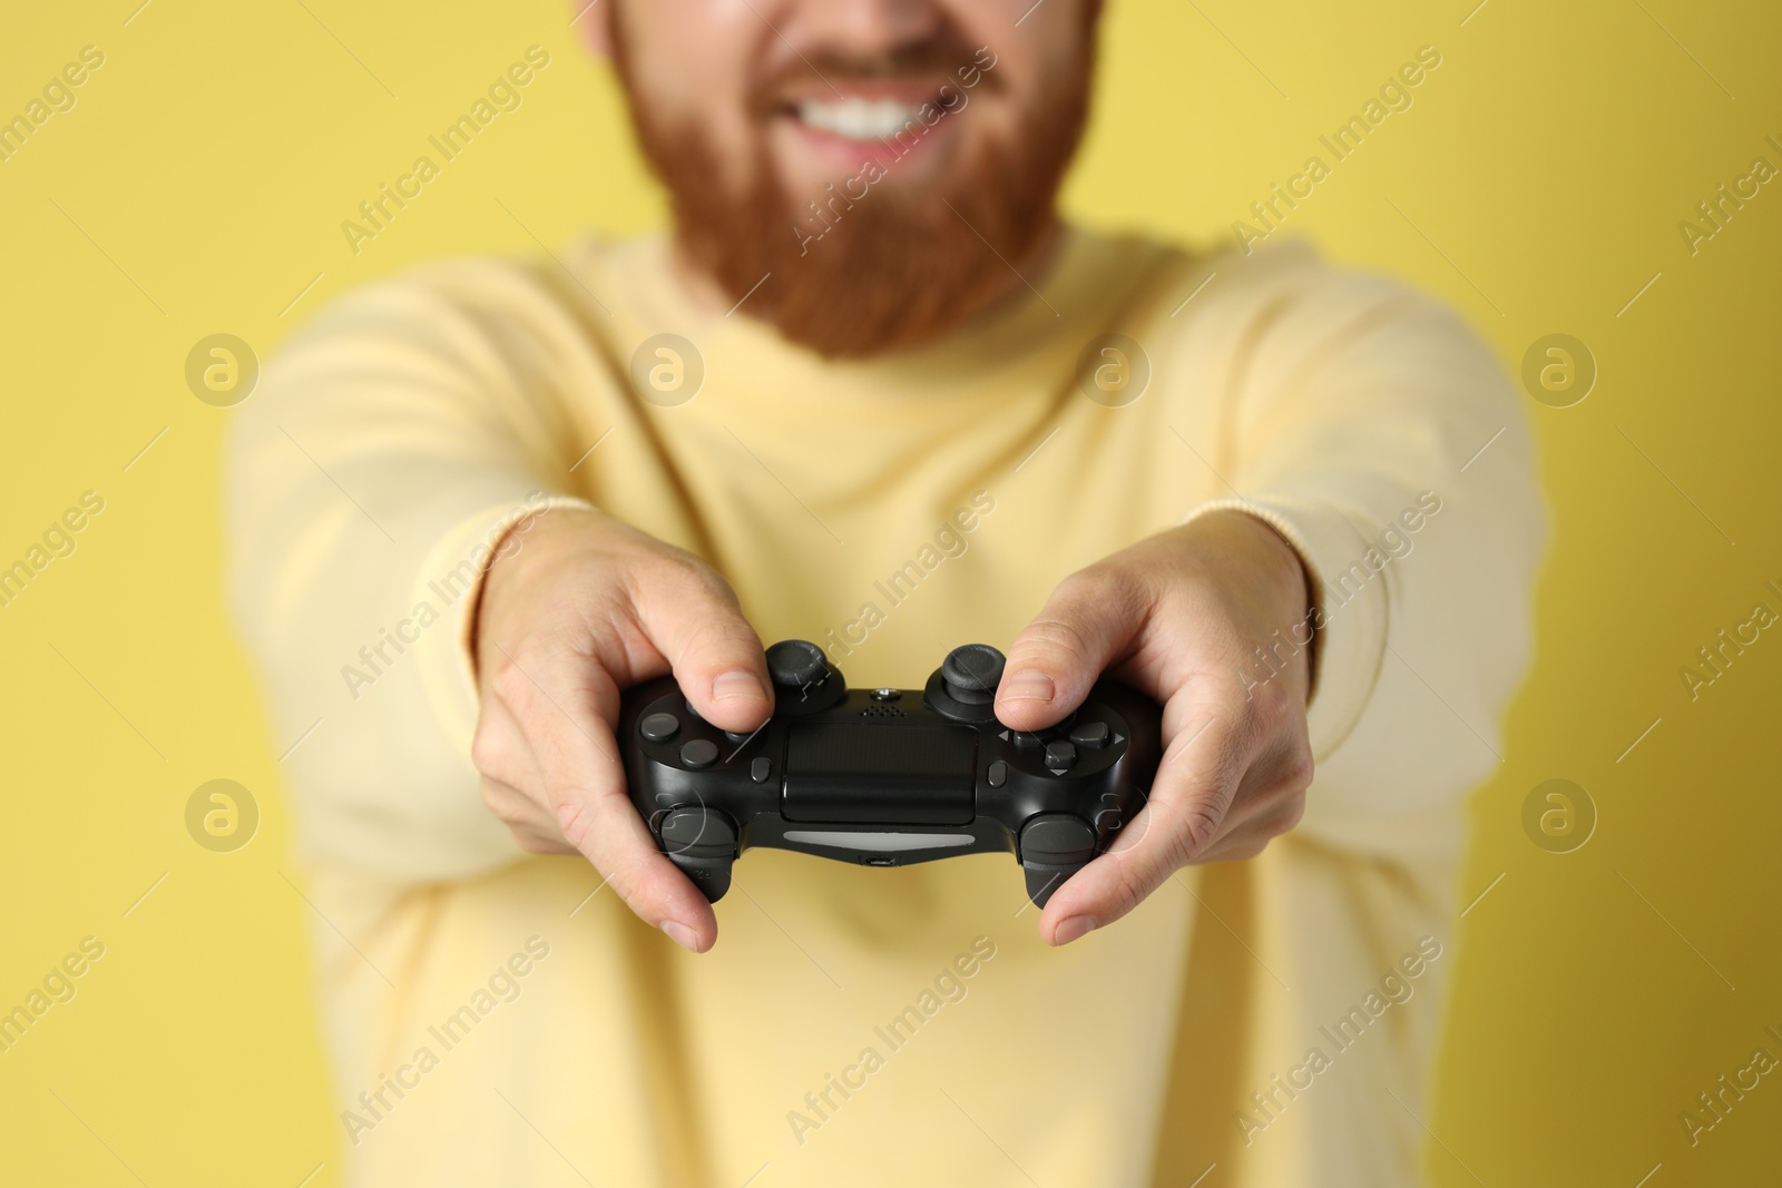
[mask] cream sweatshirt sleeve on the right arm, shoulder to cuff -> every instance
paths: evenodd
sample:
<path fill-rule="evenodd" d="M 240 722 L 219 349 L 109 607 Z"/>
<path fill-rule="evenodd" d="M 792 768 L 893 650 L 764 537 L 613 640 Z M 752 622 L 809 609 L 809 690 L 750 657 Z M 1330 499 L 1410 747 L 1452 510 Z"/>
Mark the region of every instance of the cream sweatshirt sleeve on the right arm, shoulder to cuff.
<path fill-rule="evenodd" d="M 1238 497 L 1194 515 L 1260 515 L 1313 577 L 1319 769 L 1299 832 L 1445 851 L 1533 650 L 1547 524 L 1527 419 L 1442 305 L 1360 273 L 1290 276 L 1231 372 L 1221 472 Z"/>

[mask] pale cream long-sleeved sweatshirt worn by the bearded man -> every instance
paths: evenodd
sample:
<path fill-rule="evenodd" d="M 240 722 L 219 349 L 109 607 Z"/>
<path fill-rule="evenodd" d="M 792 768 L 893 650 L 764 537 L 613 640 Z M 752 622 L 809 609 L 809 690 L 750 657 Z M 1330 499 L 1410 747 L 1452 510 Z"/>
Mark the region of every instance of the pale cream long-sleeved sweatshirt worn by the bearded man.
<path fill-rule="evenodd" d="M 588 240 L 378 283 L 269 362 L 228 447 L 232 597 L 278 750 L 312 730 L 283 771 L 349 1183 L 1417 1179 L 1465 801 L 1545 543 L 1518 397 L 1443 306 L 1297 244 L 1071 232 L 1030 280 L 838 363 L 699 308 L 661 239 Z M 649 387 L 663 333 L 695 344 L 683 403 Z M 1144 360 L 1114 392 L 1080 379 L 1119 365 L 1101 335 Z M 1246 508 L 1320 590 L 1304 818 L 1062 949 L 1012 855 L 750 851 L 716 949 L 683 953 L 478 793 L 469 616 L 490 543 L 552 502 L 900 688 Z"/>

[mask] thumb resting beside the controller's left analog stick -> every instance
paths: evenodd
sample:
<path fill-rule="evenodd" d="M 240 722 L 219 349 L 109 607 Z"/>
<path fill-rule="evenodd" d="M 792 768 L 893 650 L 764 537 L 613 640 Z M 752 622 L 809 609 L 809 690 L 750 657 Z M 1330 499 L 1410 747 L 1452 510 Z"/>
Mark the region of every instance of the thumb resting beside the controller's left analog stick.
<path fill-rule="evenodd" d="M 720 730 L 754 730 L 773 712 L 761 636 L 729 582 L 700 561 L 672 561 L 633 595 L 643 632 L 693 709 Z"/>

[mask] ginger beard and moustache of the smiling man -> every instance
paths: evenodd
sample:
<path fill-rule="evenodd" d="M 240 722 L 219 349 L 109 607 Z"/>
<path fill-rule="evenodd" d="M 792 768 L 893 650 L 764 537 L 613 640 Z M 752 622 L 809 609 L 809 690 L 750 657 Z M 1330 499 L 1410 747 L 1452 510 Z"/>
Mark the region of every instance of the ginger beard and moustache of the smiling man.
<path fill-rule="evenodd" d="M 1085 5 L 1092 7 L 1092 5 Z M 916 347 L 968 322 L 1009 294 L 1010 269 L 1053 228 L 1053 203 L 1089 110 L 1094 20 L 1083 21 L 1082 53 L 1016 121 L 1014 135 L 971 148 L 955 139 L 953 167 L 932 187 L 898 187 L 898 159 L 862 162 L 822 194 L 791 194 L 768 150 L 766 126 L 779 110 L 777 84 L 807 78 L 944 75 L 955 93 L 1000 89 L 994 68 L 971 89 L 955 71 L 973 64 L 973 46 L 952 30 L 898 48 L 880 61 L 825 55 L 795 64 L 754 87 L 754 148 L 745 180 L 723 185 L 723 160 L 697 126 L 652 114 L 625 50 L 624 21 L 613 28 L 613 59 L 633 128 L 656 176 L 668 189 L 675 246 L 748 313 L 825 358 L 859 358 Z M 946 119 L 969 118 L 969 102 Z M 907 148 L 927 134 L 918 119 L 889 142 Z M 763 280 L 766 278 L 766 280 Z"/>

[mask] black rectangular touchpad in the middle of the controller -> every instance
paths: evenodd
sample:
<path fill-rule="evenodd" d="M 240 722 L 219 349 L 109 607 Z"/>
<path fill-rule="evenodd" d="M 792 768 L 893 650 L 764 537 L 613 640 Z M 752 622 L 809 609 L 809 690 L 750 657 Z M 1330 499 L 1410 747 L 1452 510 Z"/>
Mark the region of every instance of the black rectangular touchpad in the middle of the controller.
<path fill-rule="evenodd" d="M 788 821 L 969 825 L 978 734 L 952 723 L 800 721 L 786 732 Z"/>

